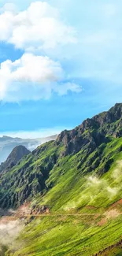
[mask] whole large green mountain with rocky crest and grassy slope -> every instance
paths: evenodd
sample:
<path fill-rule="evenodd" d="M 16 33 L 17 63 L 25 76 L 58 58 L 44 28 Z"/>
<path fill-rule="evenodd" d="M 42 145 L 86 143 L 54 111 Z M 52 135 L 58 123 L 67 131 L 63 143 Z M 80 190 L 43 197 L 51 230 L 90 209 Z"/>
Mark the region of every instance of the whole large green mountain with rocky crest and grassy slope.
<path fill-rule="evenodd" d="M 121 184 L 118 103 L 61 132 L 1 175 L 0 207 L 27 204 L 31 214 L 19 246 L 6 255 L 122 255 Z"/>

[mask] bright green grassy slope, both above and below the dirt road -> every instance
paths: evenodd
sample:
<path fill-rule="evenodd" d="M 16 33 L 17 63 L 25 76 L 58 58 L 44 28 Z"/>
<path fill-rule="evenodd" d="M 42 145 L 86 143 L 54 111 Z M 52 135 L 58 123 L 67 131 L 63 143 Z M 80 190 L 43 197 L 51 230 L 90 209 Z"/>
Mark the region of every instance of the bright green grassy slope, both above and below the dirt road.
<path fill-rule="evenodd" d="M 97 160 L 97 158 L 92 160 L 95 152 L 83 161 L 80 169 L 79 162 L 81 158 L 85 158 L 85 152 L 81 151 L 74 156 L 61 158 L 46 180 L 47 187 L 50 187 L 50 184 L 53 184 L 53 187 L 46 195 L 38 195 L 35 198 L 39 205 L 49 205 L 51 213 L 100 213 L 100 216 L 62 215 L 35 219 L 20 235 L 19 249 L 14 252 L 13 248 L 11 253 L 6 255 L 89 256 L 118 242 L 122 235 L 121 215 L 106 219 L 101 214 L 111 210 L 113 202 L 122 198 L 122 167 L 117 163 L 122 159 L 121 145 L 122 139 L 112 139 L 106 147 L 102 145 L 98 149 L 104 148 L 102 158 L 98 158 L 99 164 L 93 173 L 88 173 L 87 166 L 90 168 Z M 45 153 L 50 154 L 50 150 L 55 148 L 49 147 Z M 40 164 L 45 153 L 41 154 L 39 160 L 33 161 L 32 165 Z M 109 172 L 100 176 L 99 170 L 102 171 L 108 158 L 113 159 L 113 164 Z M 116 208 L 121 210 L 119 205 Z M 105 222 L 101 224 L 102 219 Z M 108 250 L 106 255 L 121 255 L 121 253 L 122 250 L 116 248 Z"/>

